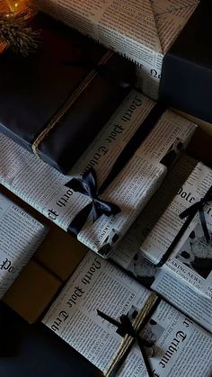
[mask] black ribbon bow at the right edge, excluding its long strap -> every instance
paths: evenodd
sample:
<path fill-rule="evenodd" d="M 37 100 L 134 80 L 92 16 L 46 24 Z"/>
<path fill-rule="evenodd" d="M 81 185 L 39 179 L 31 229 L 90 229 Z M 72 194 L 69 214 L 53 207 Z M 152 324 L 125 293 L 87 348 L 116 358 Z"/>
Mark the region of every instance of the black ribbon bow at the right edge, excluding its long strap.
<path fill-rule="evenodd" d="M 185 211 L 181 212 L 179 216 L 181 219 L 188 218 L 188 222 L 191 222 L 191 220 L 193 220 L 195 215 L 199 212 L 199 219 L 204 232 L 204 236 L 209 243 L 211 237 L 208 231 L 207 221 L 204 213 L 204 207 L 208 202 L 212 202 L 212 186 L 209 188 L 208 192 L 203 196 L 203 198 L 199 200 L 199 202 L 192 204 Z"/>

